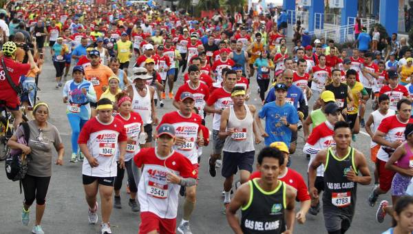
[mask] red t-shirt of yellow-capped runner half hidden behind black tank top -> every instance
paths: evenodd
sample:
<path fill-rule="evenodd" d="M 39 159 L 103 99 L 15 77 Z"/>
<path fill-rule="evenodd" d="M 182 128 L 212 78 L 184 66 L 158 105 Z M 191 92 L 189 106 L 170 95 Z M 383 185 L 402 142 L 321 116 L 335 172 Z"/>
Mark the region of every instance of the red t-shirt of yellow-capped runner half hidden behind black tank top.
<path fill-rule="evenodd" d="M 278 178 L 278 180 L 286 182 L 286 184 L 292 186 L 293 188 L 297 189 L 297 199 L 300 202 L 304 202 L 310 200 L 310 194 L 308 193 L 308 188 L 306 182 L 304 182 L 303 177 L 293 169 L 288 168 L 286 175 L 283 178 Z M 254 171 L 250 175 L 250 180 L 254 178 L 261 178 L 260 171 Z"/>

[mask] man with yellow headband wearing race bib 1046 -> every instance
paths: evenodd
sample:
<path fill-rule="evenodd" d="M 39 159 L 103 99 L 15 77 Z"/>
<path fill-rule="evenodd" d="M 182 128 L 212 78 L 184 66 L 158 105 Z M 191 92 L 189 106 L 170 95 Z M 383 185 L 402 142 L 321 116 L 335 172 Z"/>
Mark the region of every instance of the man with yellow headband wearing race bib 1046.
<path fill-rule="evenodd" d="M 100 191 L 102 210 L 102 234 L 111 234 L 109 218 L 112 213 L 112 193 L 117 175 L 116 151 L 119 150 L 120 168 L 125 167 L 127 135 L 123 123 L 112 116 L 112 101 L 102 98 L 98 101 L 98 116 L 87 121 L 78 138 L 78 144 L 87 160 L 83 161 L 83 187 L 89 206 L 89 224 L 98 222 Z"/>

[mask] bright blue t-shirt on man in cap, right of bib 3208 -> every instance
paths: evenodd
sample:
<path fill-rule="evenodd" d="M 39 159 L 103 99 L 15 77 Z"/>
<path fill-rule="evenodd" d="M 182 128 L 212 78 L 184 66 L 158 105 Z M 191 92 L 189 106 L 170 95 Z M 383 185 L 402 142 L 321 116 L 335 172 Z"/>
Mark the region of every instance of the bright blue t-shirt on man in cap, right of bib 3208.
<path fill-rule="evenodd" d="M 272 142 L 282 141 L 290 147 L 292 131 L 281 122 L 282 117 L 286 117 L 287 123 L 295 125 L 298 123 L 297 110 L 288 103 L 279 107 L 275 102 L 267 103 L 258 112 L 260 118 L 265 118 L 265 131 L 268 137 L 264 139 L 265 145 Z"/>

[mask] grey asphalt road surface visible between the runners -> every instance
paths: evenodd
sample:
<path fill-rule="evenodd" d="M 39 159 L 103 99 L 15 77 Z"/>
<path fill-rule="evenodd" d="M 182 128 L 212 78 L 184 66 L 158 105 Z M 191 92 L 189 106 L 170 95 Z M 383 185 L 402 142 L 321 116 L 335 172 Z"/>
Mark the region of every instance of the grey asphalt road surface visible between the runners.
<path fill-rule="evenodd" d="M 46 53 L 48 54 L 48 53 Z M 70 125 L 65 115 L 65 105 L 62 102 L 62 88 L 55 89 L 54 85 L 54 67 L 48 56 L 43 73 L 40 76 L 39 87 L 41 100 L 50 105 L 50 123 L 56 125 L 61 133 L 65 144 L 65 164 L 63 166 L 52 167 L 52 179 L 49 191 L 47 193 L 47 205 L 45 215 L 43 216 L 43 231 L 45 233 L 98 233 L 100 225 L 89 225 L 87 223 L 87 203 L 83 192 L 81 180 L 81 162 L 70 163 L 71 143 L 70 143 Z M 251 80 L 252 98 L 248 104 L 253 104 L 260 109 L 260 100 L 257 94 L 257 83 Z M 182 78 L 178 80 L 178 85 L 182 84 Z M 176 85 L 176 89 L 178 89 Z M 368 105 L 370 108 L 370 105 Z M 171 100 L 165 101 L 165 107 L 158 109 L 158 116 L 175 110 Z M 371 110 L 368 109 L 366 118 Z M 207 116 L 207 123 L 211 127 L 211 116 Z M 363 129 L 364 130 L 364 129 Z M 292 168 L 299 171 L 306 179 L 306 169 L 308 160 L 302 153 L 303 133 L 299 131 L 297 151 L 292 156 Z M 256 146 L 256 151 L 260 151 L 264 146 L 263 143 Z M 352 142 L 352 146 L 366 154 L 370 158 L 370 137 L 367 134 L 359 134 L 357 142 Z M 195 211 L 190 220 L 193 233 L 232 233 L 231 228 L 226 222 L 225 215 L 222 214 L 221 196 L 222 184 L 224 182 L 220 171 L 215 178 L 211 178 L 208 172 L 208 157 L 211 153 L 211 146 L 204 149 L 200 167 L 200 180 L 198 186 L 198 201 Z M 369 160 L 370 162 L 370 160 Z M 0 162 L 3 167 L 3 162 Z M 372 164 L 370 162 L 370 171 Z M 124 180 L 125 182 L 125 180 Z M 21 224 L 21 202 L 23 195 L 19 194 L 19 183 L 11 182 L 6 178 L 4 169 L 0 169 L 0 233 L 30 233 L 34 225 L 34 206 L 30 214 L 29 226 Z M 383 224 L 375 221 L 374 215 L 377 206 L 374 208 L 368 206 L 366 200 L 370 186 L 359 186 L 357 194 L 357 207 L 352 226 L 348 233 L 381 233 L 391 225 L 390 217 L 385 218 Z M 140 224 L 139 213 L 132 213 L 127 205 L 129 195 L 125 192 L 125 186 L 121 190 L 123 200 L 123 209 L 114 209 L 111 217 L 111 226 L 114 233 L 137 233 Z M 390 199 L 390 195 L 383 195 L 379 198 Z M 182 218 L 182 203 L 180 197 L 180 206 L 178 211 L 177 222 L 179 224 Z M 299 206 L 299 204 L 297 204 Z M 297 207 L 298 208 L 298 207 Z M 99 211 L 100 222 L 100 211 Z M 307 221 L 304 225 L 295 224 L 294 233 L 326 233 L 324 228 L 324 218 L 322 213 L 317 216 L 307 215 Z"/>

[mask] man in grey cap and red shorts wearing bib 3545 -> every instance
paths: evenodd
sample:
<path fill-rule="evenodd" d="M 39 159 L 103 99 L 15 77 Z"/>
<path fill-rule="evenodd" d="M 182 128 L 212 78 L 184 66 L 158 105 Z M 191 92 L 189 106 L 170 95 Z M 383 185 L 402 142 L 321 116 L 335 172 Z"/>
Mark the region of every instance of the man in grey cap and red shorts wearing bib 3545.
<path fill-rule="evenodd" d="M 198 173 L 191 161 L 173 150 L 175 132 L 173 125 L 160 125 L 156 148 L 141 149 L 134 157 L 136 166 L 143 167 L 138 185 L 139 233 L 176 233 L 180 187 L 196 184 Z"/>

